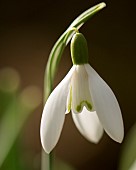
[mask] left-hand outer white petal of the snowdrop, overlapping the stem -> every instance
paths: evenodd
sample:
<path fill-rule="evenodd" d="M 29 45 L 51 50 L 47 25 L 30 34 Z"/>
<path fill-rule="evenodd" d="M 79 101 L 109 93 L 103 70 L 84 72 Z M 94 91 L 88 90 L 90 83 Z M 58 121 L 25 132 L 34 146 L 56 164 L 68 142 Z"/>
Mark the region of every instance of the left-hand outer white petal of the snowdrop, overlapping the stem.
<path fill-rule="evenodd" d="M 67 76 L 53 90 L 49 96 L 43 110 L 40 135 L 44 150 L 49 153 L 57 144 L 65 118 L 66 99 L 68 95 L 68 86 L 74 66 Z"/>

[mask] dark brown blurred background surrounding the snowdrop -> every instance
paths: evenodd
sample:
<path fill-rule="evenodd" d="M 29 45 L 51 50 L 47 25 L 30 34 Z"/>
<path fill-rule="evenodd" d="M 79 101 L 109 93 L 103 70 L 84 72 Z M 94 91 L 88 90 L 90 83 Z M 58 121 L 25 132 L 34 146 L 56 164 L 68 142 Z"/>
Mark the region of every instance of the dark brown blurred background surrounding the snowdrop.
<path fill-rule="evenodd" d="M 22 86 L 43 91 L 46 62 L 56 40 L 83 11 L 98 0 L 0 0 L 0 69 L 10 66 L 20 73 Z M 125 134 L 135 123 L 136 96 L 136 1 L 106 0 L 107 7 L 82 28 L 90 52 L 90 64 L 113 89 L 122 109 Z M 72 66 L 66 48 L 55 84 Z M 20 134 L 21 149 L 31 169 L 40 170 L 39 126 L 42 105 L 29 118 Z M 66 116 L 58 158 L 77 170 L 116 170 L 122 144 L 104 134 L 99 144 L 85 140 L 71 115 Z M 29 155 L 29 156 L 28 156 Z"/>

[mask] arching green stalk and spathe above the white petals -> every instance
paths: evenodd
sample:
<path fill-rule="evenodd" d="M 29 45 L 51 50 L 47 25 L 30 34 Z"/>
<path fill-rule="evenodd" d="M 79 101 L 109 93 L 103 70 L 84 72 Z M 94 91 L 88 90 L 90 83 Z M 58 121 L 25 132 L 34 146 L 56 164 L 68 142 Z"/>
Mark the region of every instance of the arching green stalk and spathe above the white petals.
<path fill-rule="evenodd" d="M 60 36 L 60 38 L 57 40 L 55 45 L 53 46 L 51 53 L 49 55 L 49 59 L 47 62 L 47 67 L 45 71 L 45 78 L 44 78 L 44 95 L 45 95 L 45 101 L 50 95 L 52 91 L 52 85 L 55 73 L 58 68 L 58 64 L 60 62 L 61 56 L 63 54 L 63 51 L 69 41 L 72 38 L 71 31 L 75 29 L 80 29 L 94 14 L 99 12 L 101 9 L 103 9 L 106 6 L 104 2 L 97 4 L 85 12 L 83 12 L 81 15 L 79 15 L 67 28 L 67 30 Z"/>

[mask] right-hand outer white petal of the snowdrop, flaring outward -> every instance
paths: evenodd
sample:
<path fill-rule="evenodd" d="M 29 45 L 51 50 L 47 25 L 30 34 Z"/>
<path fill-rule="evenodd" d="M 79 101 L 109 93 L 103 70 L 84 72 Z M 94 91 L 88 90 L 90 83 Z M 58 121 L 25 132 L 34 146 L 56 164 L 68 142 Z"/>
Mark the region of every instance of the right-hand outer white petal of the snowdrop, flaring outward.
<path fill-rule="evenodd" d="M 89 88 L 99 120 L 108 135 L 117 142 L 124 137 L 123 120 L 115 95 L 105 81 L 89 65 L 85 64 L 89 76 Z"/>

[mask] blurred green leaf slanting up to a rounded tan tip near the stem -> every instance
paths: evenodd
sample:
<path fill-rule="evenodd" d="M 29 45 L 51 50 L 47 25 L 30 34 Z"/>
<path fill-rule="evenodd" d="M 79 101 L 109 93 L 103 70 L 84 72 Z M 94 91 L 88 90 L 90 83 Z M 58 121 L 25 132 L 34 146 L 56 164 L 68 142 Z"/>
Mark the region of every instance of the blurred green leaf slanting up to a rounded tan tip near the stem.
<path fill-rule="evenodd" d="M 39 106 L 40 91 L 35 86 L 14 96 L 0 120 L 0 167 L 4 163 L 29 115 Z M 14 162 L 16 163 L 16 162 Z"/>

